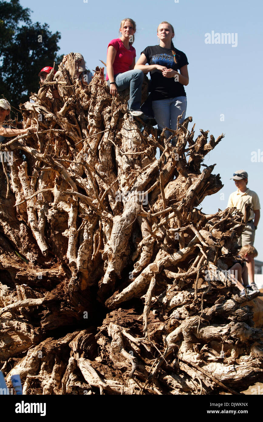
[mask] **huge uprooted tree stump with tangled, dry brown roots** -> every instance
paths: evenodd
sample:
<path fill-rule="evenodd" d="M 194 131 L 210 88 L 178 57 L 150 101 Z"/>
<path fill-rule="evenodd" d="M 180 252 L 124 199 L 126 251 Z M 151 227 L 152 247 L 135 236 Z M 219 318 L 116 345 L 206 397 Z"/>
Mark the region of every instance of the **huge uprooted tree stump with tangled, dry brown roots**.
<path fill-rule="evenodd" d="M 238 394 L 263 371 L 262 330 L 226 269 L 244 220 L 198 209 L 221 141 L 188 117 L 176 146 L 112 100 L 73 54 L 1 146 L 0 369 L 24 394 Z M 144 84 L 144 92 L 146 84 Z M 156 149 L 160 149 L 157 160 Z M 4 160 L 3 160 L 4 161 Z M 201 167 L 203 166 L 203 167 Z M 10 175 L 8 175 L 10 171 Z M 243 299 L 245 300 L 245 299 Z"/>

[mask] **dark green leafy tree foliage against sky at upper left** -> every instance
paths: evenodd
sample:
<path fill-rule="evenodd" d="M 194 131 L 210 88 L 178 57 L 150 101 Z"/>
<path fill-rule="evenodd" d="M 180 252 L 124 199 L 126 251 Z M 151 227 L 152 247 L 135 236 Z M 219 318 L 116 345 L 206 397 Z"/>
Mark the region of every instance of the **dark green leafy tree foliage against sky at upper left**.
<path fill-rule="evenodd" d="M 60 63 L 60 33 L 48 24 L 33 23 L 30 9 L 19 0 L 0 0 L 0 97 L 18 108 L 39 89 L 38 73 L 44 66 Z"/>

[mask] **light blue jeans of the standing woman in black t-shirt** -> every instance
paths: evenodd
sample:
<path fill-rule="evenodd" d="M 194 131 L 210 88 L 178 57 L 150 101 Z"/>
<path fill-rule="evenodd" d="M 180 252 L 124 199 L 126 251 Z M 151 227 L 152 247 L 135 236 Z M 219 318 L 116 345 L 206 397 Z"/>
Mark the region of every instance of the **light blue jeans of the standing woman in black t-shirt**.
<path fill-rule="evenodd" d="M 158 125 L 158 129 L 163 130 L 164 127 L 176 130 L 177 117 L 183 112 L 182 119 L 179 123 L 184 121 L 187 107 L 186 97 L 174 97 L 166 98 L 165 100 L 155 100 L 152 102 L 152 109 L 155 114 L 155 120 Z M 165 137 L 171 136 L 171 132 L 165 130 Z"/>

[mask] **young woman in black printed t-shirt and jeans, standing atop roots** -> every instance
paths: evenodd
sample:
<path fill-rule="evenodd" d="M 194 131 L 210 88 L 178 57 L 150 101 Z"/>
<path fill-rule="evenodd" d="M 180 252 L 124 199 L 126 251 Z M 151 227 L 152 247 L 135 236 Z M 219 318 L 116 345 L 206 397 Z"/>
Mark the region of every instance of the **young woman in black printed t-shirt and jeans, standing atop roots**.
<path fill-rule="evenodd" d="M 186 55 L 174 47 L 174 28 L 169 22 L 160 23 L 157 37 L 160 45 L 146 47 L 141 52 L 135 69 L 150 72 L 152 109 L 158 128 L 163 130 L 164 127 L 169 127 L 176 130 L 177 117 L 183 114 L 180 123 L 185 118 L 187 100 L 184 85 L 189 82 L 189 63 Z M 168 137 L 171 133 L 166 131 L 165 135 Z"/>

